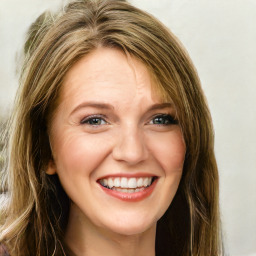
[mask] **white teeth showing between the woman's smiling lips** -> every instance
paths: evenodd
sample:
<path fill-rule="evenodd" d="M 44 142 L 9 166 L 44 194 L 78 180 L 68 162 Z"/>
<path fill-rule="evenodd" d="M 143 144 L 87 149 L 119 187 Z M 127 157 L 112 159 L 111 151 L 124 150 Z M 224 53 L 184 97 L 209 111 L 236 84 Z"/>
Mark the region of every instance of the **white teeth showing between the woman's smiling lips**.
<path fill-rule="evenodd" d="M 133 193 L 134 189 L 137 192 L 137 189 L 150 186 L 152 183 L 152 177 L 140 177 L 140 178 L 126 178 L 126 177 L 115 177 L 115 178 L 105 178 L 100 180 L 100 184 L 108 188 L 120 188 L 122 192 L 124 189 L 128 189 L 128 193 Z M 130 192 L 132 191 L 132 192 Z M 126 192 L 126 191 L 125 191 Z"/>

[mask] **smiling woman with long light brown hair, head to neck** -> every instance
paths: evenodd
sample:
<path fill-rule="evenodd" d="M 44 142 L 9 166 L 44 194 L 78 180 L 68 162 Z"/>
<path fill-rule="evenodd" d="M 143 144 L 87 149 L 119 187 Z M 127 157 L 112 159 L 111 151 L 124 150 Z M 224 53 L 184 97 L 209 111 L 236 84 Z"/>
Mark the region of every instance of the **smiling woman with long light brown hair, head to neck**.
<path fill-rule="evenodd" d="M 32 25 L 8 133 L 10 255 L 221 255 L 210 114 L 185 50 L 126 1 Z"/>

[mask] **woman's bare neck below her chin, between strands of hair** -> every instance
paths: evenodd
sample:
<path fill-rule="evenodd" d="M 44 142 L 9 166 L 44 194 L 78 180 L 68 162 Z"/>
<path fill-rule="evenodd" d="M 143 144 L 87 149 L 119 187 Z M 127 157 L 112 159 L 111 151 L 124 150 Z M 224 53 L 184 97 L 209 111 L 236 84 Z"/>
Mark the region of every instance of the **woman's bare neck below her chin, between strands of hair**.
<path fill-rule="evenodd" d="M 117 234 L 96 227 L 75 207 L 72 208 L 65 240 L 74 255 L 155 256 L 156 225 L 140 234 Z"/>

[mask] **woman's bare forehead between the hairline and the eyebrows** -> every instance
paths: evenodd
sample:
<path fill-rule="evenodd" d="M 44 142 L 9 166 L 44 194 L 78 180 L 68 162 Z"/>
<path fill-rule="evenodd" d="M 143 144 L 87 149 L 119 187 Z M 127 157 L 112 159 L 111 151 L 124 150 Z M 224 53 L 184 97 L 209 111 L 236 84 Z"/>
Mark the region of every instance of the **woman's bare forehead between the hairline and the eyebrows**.
<path fill-rule="evenodd" d="M 156 80 L 140 60 L 118 49 L 98 48 L 67 72 L 61 100 L 70 95 L 78 98 L 102 95 L 106 98 L 122 93 L 127 99 L 136 94 L 161 102 L 156 88 Z M 111 93 L 106 95 L 106 92 Z"/>

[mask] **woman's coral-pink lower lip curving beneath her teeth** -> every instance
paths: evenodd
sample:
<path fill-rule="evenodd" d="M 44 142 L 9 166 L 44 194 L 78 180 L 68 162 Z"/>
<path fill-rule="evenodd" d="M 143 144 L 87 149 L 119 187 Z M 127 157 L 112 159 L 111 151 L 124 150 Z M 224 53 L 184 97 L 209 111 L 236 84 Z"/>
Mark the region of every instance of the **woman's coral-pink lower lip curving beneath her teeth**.
<path fill-rule="evenodd" d="M 153 190 L 156 186 L 156 183 L 157 183 L 157 180 L 155 180 L 148 188 L 145 188 L 142 191 L 134 192 L 134 193 L 119 192 L 116 190 L 105 188 L 102 185 L 100 185 L 100 187 L 106 194 L 113 196 L 115 198 L 118 198 L 122 201 L 138 202 L 138 201 L 141 201 L 151 195 L 151 193 L 153 192 Z"/>

